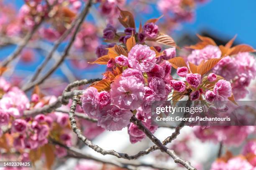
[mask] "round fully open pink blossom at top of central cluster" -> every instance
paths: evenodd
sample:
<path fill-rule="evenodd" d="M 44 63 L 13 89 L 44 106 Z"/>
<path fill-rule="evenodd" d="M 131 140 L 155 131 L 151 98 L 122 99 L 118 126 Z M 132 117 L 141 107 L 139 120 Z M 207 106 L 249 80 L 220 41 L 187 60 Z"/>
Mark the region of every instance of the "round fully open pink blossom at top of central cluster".
<path fill-rule="evenodd" d="M 156 53 L 148 46 L 137 44 L 128 53 L 128 60 L 131 68 L 148 72 L 156 64 Z"/>

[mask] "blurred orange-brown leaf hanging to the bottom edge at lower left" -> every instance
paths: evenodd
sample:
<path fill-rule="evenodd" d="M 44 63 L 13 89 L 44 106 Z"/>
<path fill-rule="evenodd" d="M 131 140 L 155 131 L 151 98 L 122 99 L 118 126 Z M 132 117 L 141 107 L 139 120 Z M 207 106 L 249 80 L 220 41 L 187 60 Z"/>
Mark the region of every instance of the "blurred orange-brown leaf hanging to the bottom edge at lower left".
<path fill-rule="evenodd" d="M 44 154 L 45 154 L 46 167 L 48 170 L 51 170 L 51 166 L 54 164 L 54 160 L 55 160 L 55 155 L 54 155 L 55 147 L 51 144 L 46 144 L 44 145 L 42 150 L 44 150 Z"/>

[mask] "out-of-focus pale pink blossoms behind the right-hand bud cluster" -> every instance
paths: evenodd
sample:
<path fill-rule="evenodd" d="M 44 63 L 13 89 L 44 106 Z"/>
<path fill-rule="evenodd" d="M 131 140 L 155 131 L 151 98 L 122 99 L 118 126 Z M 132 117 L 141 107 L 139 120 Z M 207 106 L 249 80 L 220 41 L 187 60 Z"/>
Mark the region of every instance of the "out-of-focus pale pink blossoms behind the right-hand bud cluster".
<path fill-rule="evenodd" d="M 203 60 L 220 58 L 221 51 L 218 46 L 208 45 L 200 50 L 194 50 L 187 57 L 191 63 L 199 65 Z M 256 76 L 256 62 L 254 56 L 248 52 L 226 56 L 212 70 L 231 82 L 233 95 L 236 100 L 243 99 L 248 94 L 246 87 Z"/>

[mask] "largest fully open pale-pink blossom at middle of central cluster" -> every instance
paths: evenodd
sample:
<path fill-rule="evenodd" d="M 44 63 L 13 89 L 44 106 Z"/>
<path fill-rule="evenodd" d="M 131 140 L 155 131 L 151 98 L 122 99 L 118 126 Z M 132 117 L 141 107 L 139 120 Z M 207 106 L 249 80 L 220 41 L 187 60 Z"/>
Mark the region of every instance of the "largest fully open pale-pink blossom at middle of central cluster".
<path fill-rule="evenodd" d="M 118 77 L 111 84 L 110 95 L 113 104 L 122 109 L 137 109 L 143 103 L 145 95 L 143 87 L 143 83 L 135 76 Z"/>

